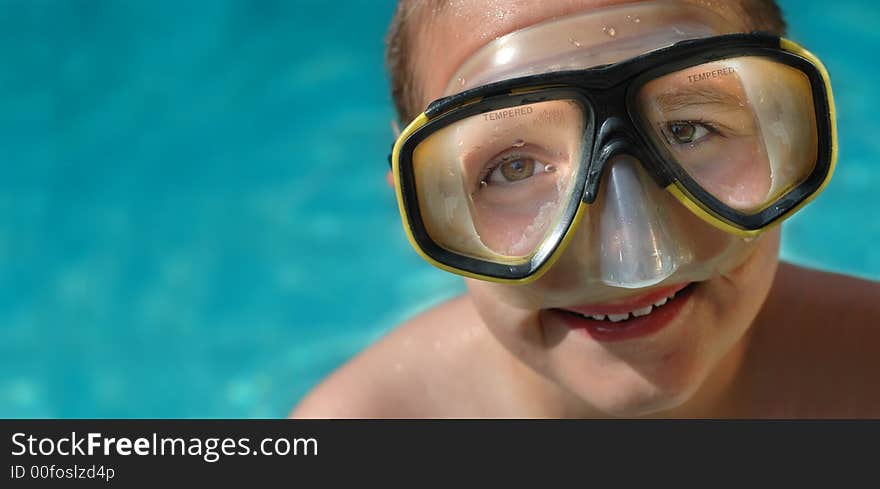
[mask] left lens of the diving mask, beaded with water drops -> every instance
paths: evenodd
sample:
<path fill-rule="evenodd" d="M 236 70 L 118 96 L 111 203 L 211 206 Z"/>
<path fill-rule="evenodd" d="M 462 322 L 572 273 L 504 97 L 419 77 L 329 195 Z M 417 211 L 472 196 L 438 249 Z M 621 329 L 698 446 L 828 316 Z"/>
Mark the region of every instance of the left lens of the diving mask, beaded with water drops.
<path fill-rule="evenodd" d="M 449 251 L 525 262 L 557 229 L 583 171 L 585 108 L 551 100 L 458 120 L 416 146 L 419 211 Z"/>

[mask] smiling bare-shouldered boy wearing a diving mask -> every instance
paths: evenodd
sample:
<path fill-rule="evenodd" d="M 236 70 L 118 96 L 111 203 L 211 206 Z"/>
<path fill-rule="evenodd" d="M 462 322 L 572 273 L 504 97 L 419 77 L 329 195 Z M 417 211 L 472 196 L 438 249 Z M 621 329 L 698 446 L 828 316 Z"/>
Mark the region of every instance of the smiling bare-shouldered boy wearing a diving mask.
<path fill-rule="evenodd" d="M 756 30 L 773 2 L 402 2 L 402 119 L 465 95 L 404 130 L 392 183 L 468 293 L 292 416 L 880 415 L 880 286 L 778 262 L 833 169 L 823 70 L 719 37 Z"/>

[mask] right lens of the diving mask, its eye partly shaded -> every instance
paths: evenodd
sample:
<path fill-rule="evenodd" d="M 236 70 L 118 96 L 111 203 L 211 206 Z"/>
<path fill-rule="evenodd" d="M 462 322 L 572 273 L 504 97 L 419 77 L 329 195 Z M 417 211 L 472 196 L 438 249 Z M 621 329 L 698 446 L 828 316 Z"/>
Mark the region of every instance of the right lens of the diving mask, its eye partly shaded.
<path fill-rule="evenodd" d="M 646 83 L 637 97 L 647 132 L 713 197 L 757 213 L 816 165 L 810 81 L 759 56 L 693 66 Z"/>

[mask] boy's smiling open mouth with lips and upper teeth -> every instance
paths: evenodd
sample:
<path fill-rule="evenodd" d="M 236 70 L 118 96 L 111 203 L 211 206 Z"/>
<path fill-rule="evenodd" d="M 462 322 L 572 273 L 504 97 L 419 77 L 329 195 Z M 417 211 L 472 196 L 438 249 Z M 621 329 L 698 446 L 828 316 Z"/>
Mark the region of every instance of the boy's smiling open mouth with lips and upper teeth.
<path fill-rule="evenodd" d="M 551 309 L 571 329 L 599 341 L 623 341 L 654 334 L 675 319 L 697 287 L 697 282 L 658 289 L 610 304 Z"/>

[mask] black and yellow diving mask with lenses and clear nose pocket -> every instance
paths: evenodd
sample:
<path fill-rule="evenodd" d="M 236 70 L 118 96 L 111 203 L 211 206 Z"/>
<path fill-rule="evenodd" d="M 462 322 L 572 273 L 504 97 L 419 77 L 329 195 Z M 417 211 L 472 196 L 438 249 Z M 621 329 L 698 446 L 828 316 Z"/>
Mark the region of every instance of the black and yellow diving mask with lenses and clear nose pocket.
<path fill-rule="evenodd" d="M 529 282 L 586 226 L 602 237 L 602 282 L 644 287 L 694 259 L 679 239 L 687 230 L 672 227 L 681 221 L 644 198 L 646 188 L 665 189 L 731 236 L 753 237 L 831 176 L 827 73 L 785 39 L 702 37 L 556 68 L 511 71 L 437 100 L 401 133 L 391 158 L 398 202 L 431 263 Z M 600 201 L 602 212 L 581 222 Z"/>

